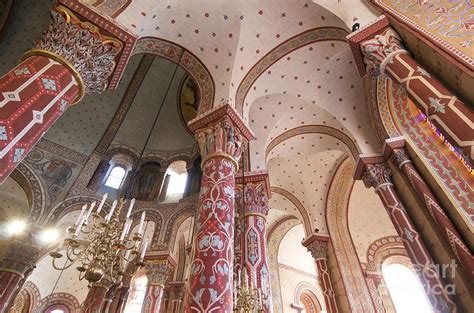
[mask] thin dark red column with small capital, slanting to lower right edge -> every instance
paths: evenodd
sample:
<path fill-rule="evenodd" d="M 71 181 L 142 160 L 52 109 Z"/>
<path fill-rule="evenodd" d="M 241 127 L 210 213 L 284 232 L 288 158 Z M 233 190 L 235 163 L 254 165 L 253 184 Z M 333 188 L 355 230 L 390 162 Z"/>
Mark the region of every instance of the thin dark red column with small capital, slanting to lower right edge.
<path fill-rule="evenodd" d="M 392 160 L 403 171 L 412 187 L 416 190 L 417 196 L 428 209 L 428 212 L 435 221 L 439 231 L 449 242 L 458 263 L 464 268 L 466 275 L 471 281 L 474 281 L 474 258 L 471 252 L 467 248 L 456 227 L 453 225 L 450 218 L 431 192 L 431 189 L 416 170 L 404 146 L 405 141 L 403 139 L 396 141 L 387 140 L 386 147 L 391 150 Z"/>

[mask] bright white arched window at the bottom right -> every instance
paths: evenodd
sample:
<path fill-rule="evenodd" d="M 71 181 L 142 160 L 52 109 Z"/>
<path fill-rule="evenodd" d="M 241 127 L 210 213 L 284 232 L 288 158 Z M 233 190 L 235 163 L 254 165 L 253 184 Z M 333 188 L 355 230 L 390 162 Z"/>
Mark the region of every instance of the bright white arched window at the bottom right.
<path fill-rule="evenodd" d="M 397 313 L 431 313 L 431 305 L 416 274 L 399 263 L 382 267 L 385 284 Z"/>

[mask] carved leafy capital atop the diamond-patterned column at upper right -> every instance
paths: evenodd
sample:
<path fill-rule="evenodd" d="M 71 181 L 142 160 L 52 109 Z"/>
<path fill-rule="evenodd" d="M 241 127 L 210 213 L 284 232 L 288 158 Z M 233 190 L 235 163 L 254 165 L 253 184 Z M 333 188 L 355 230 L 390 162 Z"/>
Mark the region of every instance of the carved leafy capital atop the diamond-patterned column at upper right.
<path fill-rule="evenodd" d="M 368 67 L 378 67 L 394 52 L 405 50 L 402 39 L 392 28 L 387 28 L 374 38 L 361 42 L 360 48 Z"/>

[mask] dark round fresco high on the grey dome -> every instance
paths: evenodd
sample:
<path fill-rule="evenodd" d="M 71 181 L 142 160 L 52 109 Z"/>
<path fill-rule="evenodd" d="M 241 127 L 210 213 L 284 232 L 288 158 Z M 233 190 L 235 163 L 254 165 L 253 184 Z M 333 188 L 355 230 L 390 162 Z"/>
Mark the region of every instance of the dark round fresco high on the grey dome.
<path fill-rule="evenodd" d="M 178 111 L 184 124 L 197 116 L 201 96 L 199 88 L 191 75 L 187 75 L 179 89 Z"/>

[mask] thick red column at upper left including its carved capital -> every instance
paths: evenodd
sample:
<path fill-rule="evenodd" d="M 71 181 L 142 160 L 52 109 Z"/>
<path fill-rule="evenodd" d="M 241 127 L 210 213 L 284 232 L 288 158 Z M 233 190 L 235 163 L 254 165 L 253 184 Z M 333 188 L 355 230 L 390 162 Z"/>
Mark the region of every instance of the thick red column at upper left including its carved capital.
<path fill-rule="evenodd" d="M 0 183 L 69 106 L 106 88 L 121 49 L 65 7 L 51 14 L 39 42 L 0 78 Z"/>

